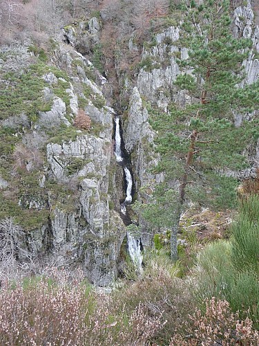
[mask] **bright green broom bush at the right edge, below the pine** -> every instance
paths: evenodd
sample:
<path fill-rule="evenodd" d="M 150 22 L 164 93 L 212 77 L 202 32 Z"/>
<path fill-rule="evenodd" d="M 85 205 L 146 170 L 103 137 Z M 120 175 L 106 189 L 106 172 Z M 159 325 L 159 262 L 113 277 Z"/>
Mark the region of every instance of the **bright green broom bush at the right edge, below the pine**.
<path fill-rule="evenodd" d="M 258 327 L 259 259 L 258 197 L 242 201 L 238 220 L 229 241 L 209 244 L 198 257 L 198 286 L 195 294 L 229 302 L 240 316 L 249 316 Z"/>

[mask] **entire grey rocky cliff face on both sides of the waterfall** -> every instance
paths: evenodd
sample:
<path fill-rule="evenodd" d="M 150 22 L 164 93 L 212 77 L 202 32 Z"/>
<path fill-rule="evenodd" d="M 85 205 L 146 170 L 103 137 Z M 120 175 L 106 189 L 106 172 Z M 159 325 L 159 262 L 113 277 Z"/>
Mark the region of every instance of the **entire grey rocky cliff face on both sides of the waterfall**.
<path fill-rule="evenodd" d="M 250 1 L 236 8 L 234 24 L 234 35 L 253 39 L 253 51 L 244 62 L 244 84 L 251 84 L 258 80 L 259 29 Z M 0 112 L 0 217 L 12 216 L 26 230 L 30 259 L 81 265 L 90 282 L 105 286 L 117 277 L 126 230 L 117 211 L 125 196 L 122 167 L 113 155 L 115 111 L 107 98 L 113 86 L 81 55 L 94 57 L 100 30 L 96 18 L 66 26 L 66 43 L 55 44 L 48 62 L 31 44 L 1 48 L 3 95 L 16 100 L 15 89 L 20 88 L 23 100 L 8 100 Z M 148 104 L 167 112 L 171 102 L 191 102 L 187 93 L 173 86 L 180 73 L 177 58 L 187 55 L 178 39 L 178 27 L 157 33 L 143 48 L 135 79 L 118 72 L 118 84 L 130 94 L 128 116 L 122 117 L 125 149 L 131 156 L 136 198 L 145 203 L 148 189 L 163 181 L 162 174 L 151 172 L 159 156 Z M 138 49 L 133 39 L 128 49 Z M 122 98 L 124 94 L 122 90 Z M 81 111 L 91 120 L 88 131 L 75 127 Z M 251 116 L 256 114 L 247 114 Z M 236 125 L 240 122 L 237 114 Z M 259 143 L 248 154 L 251 170 L 238 172 L 242 178 L 258 168 Z M 143 220 L 140 226 L 142 241 L 151 244 L 153 236 L 145 235 Z"/>

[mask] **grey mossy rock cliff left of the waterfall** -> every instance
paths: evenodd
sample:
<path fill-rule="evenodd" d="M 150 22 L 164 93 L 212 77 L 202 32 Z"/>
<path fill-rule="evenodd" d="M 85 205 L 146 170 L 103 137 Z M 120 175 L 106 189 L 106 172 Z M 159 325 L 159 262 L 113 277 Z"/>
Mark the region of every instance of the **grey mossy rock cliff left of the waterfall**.
<path fill-rule="evenodd" d="M 21 60 L 14 61 L 20 52 L 21 47 L 3 48 L 1 63 L 6 69 L 12 65 L 14 73 L 20 73 L 21 78 L 39 70 L 37 78 L 43 86 L 39 94 L 45 106 L 33 109 L 34 117 L 25 109 L 22 124 L 19 120 L 13 124 L 14 118 L 3 119 L 5 114 L 1 114 L 3 130 L 12 131 L 12 136 L 17 138 L 8 156 L 10 165 L 1 172 L 8 177 L 1 177 L 3 203 L 17 203 L 15 219 L 19 219 L 19 213 L 28 212 L 30 218 L 35 212 L 35 225 L 26 222 L 22 225 L 27 230 L 24 242 L 32 260 L 40 255 L 41 260 L 45 258 L 64 266 L 82 264 L 90 282 L 105 286 L 117 277 L 120 248 L 126 234 L 112 201 L 117 191 L 113 109 L 106 106 L 101 86 L 93 81 L 99 73 L 95 74 L 92 64 L 73 48 L 61 44 L 50 64 L 39 62 L 26 49 Z M 2 78 L 12 84 L 8 76 Z M 15 111 L 19 118 L 20 109 Z M 74 125 L 79 111 L 91 120 L 88 131 Z M 41 145 L 36 143 L 37 139 Z M 23 148 L 18 158 L 14 154 L 17 147 Z M 36 164 L 35 155 L 41 156 L 41 162 Z M 19 172 L 15 165 L 19 165 Z M 19 186 L 31 174 L 35 175 L 35 181 L 29 181 L 21 192 Z M 12 181 L 12 175 L 21 181 Z M 17 199 L 9 196 L 14 189 L 17 189 Z M 42 222 L 37 217 L 39 212 L 46 216 Z M 7 217 L 12 212 L 7 209 L 6 215 L 2 214 Z"/>

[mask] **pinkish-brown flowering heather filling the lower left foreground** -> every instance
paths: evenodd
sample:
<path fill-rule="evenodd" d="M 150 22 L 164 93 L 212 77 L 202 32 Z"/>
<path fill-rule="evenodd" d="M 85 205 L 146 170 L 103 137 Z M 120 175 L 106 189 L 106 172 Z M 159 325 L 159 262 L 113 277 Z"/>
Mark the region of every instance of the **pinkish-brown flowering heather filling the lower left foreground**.
<path fill-rule="evenodd" d="M 8 282 L 1 289 L 0 310 L 1 345 L 140 346 L 161 325 L 142 304 L 128 315 L 115 315 L 107 296 L 62 275 L 58 281 L 55 275 L 26 285 Z"/>

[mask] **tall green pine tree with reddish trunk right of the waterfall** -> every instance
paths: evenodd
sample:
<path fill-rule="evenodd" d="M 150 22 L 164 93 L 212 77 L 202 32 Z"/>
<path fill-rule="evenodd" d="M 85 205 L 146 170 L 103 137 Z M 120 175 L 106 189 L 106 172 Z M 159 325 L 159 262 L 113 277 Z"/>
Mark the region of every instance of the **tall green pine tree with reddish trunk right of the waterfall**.
<path fill-rule="evenodd" d="M 189 56 L 178 61 L 182 73 L 175 85 L 188 92 L 192 102 L 184 108 L 175 105 L 169 114 L 155 113 L 152 119 L 153 128 L 160 133 L 157 149 L 162 161 L 157 170 L 166 173 L 163 187 L 157 188 L 156 203 L 160 219 L 171 226 L 173 259 L 186 199 L 231 206 L 236 179 L 226 173 L 246 166 L 242 152 L 256 136 L 257 122 L 243 121 L 236 127 L 234 114 L 259 104 L 258 83 L 238 87 L 245 77 L 242 62 L 252 42 L 233 37 L 229 1 L 204 0 L 201 4 L 185 0 L 183 10 L 180 43 L 188 48 Z M 178 183 L 177 197 L 173 181 Z M 171 198 L 165 199 L 169 194 Z M 155 206 L 146 207 L 144 215 L 153 221 L 152 208 Z"/>

